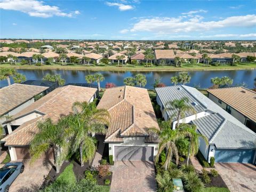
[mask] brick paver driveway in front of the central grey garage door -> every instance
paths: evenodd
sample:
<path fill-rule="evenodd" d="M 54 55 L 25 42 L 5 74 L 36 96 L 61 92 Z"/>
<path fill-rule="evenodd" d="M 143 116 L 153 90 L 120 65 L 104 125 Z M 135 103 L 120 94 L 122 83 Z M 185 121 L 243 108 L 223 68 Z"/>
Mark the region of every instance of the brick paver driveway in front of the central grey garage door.
<path fill-rule="evenodd" d="M 111 192 L 156 191 L 155 167 L 153 162 L 115 161 Z"/>

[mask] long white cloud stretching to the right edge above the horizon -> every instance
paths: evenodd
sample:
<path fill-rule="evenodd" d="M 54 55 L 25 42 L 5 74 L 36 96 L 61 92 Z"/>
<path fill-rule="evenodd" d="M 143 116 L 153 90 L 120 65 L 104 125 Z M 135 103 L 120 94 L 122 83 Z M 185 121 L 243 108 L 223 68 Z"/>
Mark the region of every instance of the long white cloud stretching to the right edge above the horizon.
<path fill-rule="evenodd" d="M 202 21 L 203 17 L 194 15 L 192 18 L 155 17 L 139 19 L 130 31 L 147 31 L 155 34 L 191 33 L 193 31 L 209 31 L 230 27 L 256 27 L 256 15 L 228 17 L 218 21 Z"/>

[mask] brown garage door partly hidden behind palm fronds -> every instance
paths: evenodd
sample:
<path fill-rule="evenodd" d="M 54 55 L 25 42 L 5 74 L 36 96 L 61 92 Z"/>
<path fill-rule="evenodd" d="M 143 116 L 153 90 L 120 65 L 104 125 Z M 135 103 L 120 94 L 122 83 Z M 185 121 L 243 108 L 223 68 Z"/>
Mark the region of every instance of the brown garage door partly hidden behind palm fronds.
<path fill-rule="evenodd" d="M 29 154 L 29 147 L 15 147 L 17 159 L 31 159 Z M 47 160 L 54 159 L 52 149 L 43 154 L 39 159 Z"/>

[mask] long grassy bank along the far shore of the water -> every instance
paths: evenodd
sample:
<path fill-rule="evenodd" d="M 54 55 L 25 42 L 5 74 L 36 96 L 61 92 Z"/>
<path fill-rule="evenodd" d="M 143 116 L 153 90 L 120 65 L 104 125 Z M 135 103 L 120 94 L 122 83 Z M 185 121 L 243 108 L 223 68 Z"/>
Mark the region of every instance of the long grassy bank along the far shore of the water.
<path fill-rule="evenodd" d="M 204 70 L 253 70 L 256 69 L 256 63 L 238 63 L 237 66 L 230 65 L 221 65 L 221 66 L 203 66 L 202 63 L 190 64 L 183 63 L 182 67 L 175 66 L 153 66 L 153 67 L 145 67 L 145 66 L 133 66 L 131 64 L 126 64 L 125 66 L 115 66 L 115 65 L 91 65 L 91 66 L 83 66 L 77 65 L 74 63 L 67 63 L 67 65 L 61 65 L 59 63 L 54 63 L 52 65 L 21 65 L 21 63 L 17 63 L 16 65 L 11 65 L 11 63 L 2 63 L 0 64 L 0 68 L 14 68 L 14 69 L 41 69 L 41 70 L 49 70 L 49 69 L 57 69 L 57 70 L 91 70 L 91 71 L 204 71 Z"/>

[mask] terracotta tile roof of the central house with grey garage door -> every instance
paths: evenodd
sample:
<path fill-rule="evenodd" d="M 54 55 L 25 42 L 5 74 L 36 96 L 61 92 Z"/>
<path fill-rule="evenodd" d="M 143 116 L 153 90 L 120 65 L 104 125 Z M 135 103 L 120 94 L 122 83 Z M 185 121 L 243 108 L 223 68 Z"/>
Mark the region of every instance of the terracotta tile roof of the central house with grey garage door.
<path fill-rule="evenodd" d="M 123 137 L 134 136 L 158 142 L 155 135 L 148 133 L 150 127 L 159 127 L 146 89 L 132 86 L 107 89 L 98 108 L 107 109 L 111 116 L 106 142 L 123 142 Z"/>

